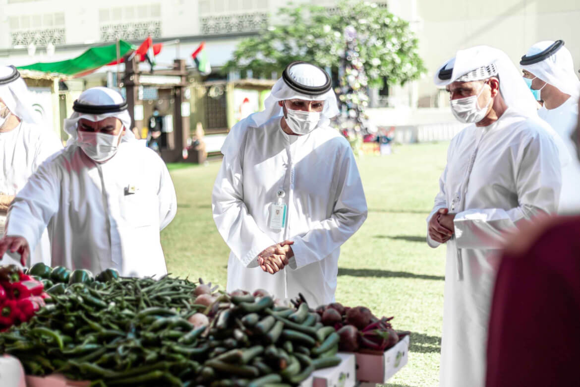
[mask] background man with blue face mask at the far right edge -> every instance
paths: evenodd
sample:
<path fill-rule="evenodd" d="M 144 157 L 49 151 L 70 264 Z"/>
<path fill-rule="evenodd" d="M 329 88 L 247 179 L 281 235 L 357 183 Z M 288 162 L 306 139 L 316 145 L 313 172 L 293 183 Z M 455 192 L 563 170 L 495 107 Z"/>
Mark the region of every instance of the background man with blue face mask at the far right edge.
<path fill-rule="evenodd" d="M 539 90 L 543 107 L 538 115 L 548 122 L 565 143 L 569 161 L 562 167 L 562 190 L 559 212 L 580 212 L 580 162 L 571 139 L 578 121 L 580 81 L 574 70 L 572 55 L 564 41 L 543 41 L 531 46 L 521 58 L 524 77 L 531 79 L 531 88 Z"/>

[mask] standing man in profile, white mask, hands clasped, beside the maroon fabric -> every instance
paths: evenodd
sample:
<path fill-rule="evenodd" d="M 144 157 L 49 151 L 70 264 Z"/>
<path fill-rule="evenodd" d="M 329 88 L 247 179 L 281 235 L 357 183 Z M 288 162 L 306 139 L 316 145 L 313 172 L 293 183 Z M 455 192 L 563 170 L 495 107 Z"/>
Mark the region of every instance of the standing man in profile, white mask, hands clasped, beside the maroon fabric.
<path fill-rule="evenodd" d="M 506 233 L 556 212 L 561 168 L 551 128 L 501 50 L 459 50 L 437 70 L 455 117 L 471 125 L 449 144 L 427 243 L 447 243 L 441 346 L 443 387 L 485 385 L 491 295 Z"/>

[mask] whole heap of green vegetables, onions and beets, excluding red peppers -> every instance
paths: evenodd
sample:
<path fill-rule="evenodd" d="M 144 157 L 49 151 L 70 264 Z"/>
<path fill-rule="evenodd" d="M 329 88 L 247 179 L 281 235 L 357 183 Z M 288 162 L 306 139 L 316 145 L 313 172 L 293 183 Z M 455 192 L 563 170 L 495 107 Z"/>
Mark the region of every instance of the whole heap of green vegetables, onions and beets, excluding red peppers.
<path fill-rule="evenodd" d="M 35 281 L 10 270 L 12 280 Z M 315 311 L 300 299 L 279 305 L 265 291 L 225 294 L 201 280 L 125 278 L 111 269 L 96 279 L 63 267 L 28 272 L 52 282 L 46 305 L 0 333 L 0 353 L 30 375 L 103 386 L 292 386 L 338 365 L 339 348 L 387 348 L 398 339 L 388 319 L 338 303 Z"/>

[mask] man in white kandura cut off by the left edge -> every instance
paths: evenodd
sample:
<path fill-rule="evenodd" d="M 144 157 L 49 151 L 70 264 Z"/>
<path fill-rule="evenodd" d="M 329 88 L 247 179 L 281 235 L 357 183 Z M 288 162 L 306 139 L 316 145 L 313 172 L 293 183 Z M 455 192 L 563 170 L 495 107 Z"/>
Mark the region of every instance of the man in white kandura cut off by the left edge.
<path fill-rule="evenodd" d="M 61 149 L 63 144 L 52 128 L 41 126 L 35 118 L 30 92 L 19 71 L 13 66 L 0 67 L 0 235 L 4 233 L 6 213 L 14 195 L 42 162 Z M 31 252 L 30 262 L 50 265 L 46 230 Z"/>

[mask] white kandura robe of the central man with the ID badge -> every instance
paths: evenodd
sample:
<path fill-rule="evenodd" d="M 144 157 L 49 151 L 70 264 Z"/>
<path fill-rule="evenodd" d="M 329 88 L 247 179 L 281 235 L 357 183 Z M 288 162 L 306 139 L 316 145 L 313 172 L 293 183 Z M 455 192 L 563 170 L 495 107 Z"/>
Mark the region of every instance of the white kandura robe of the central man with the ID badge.
<path fill-rule="evenodd" d="M 367 202 L 349 143 L 322 127 L 289 136 L 274 117 L 258 128 L 239 125 L 224 146 L 213 187 L 213 219 L 231 249 L 227 290 L 263 288 L 278 298 L 301 292 L 309 305 L 334 301 L 340 245 L 367 218 Z M 270 205 L 284 190 L 285 229 L 269 227 Z M 276 274 L 263 272 L 257 256 L 292 240 L 295 258 Z"/>

